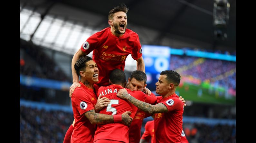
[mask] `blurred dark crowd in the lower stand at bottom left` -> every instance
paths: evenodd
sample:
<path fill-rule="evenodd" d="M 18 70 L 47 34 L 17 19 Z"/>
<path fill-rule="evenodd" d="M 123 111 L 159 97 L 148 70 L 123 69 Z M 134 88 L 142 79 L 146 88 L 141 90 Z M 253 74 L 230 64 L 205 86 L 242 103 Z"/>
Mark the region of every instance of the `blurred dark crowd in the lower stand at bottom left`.
<path fill-rule="evenodd" d="M 63 143 L 73 113 L 20 107 L 20 143 Z"/>

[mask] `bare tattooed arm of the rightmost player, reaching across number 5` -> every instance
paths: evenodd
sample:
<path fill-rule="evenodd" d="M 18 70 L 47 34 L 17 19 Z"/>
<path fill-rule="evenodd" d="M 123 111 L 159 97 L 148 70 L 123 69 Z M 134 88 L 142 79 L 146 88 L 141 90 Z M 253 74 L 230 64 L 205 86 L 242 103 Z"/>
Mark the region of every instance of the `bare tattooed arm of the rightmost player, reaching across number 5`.
<path fill-rule="evenodd" d="M 142 111 L 145 111 L 149 114 L 168 112 L 168 109 L 164 104 L 158 103 L 156 105 L 151 105 L 151 104 L 145 103 L 129 95 L 126 89 L 119 89 L 117 96 L 122 99 L 127 99 L 133 105 L 135 105 Z"/>

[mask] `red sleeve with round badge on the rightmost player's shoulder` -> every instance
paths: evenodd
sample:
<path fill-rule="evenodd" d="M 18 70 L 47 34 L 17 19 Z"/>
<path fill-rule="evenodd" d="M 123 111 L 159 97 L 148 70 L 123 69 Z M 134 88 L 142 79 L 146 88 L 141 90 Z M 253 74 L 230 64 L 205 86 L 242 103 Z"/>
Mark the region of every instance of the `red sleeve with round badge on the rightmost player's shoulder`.
<path fill-rule="evenodd" d="M 160 103 L 163 103 L 168 111 L 175 111 L 175 110 L 179 110 L 181 108 L 181 106 L 183 107 L 183 102 L 178 99 L 178 98 L 175 98 L 175 99 L 167 99 L 167 100 L 164 100 Z"/>

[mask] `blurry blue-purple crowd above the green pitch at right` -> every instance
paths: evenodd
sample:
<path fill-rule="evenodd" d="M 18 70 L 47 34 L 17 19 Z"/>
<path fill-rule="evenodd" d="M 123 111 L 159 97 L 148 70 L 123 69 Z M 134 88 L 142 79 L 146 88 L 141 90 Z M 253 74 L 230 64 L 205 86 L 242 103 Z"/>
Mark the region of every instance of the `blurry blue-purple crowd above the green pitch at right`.
<path fill-rule="evenodd" d="M 193 76 L 199 78 L 202 82 L 208 80 L 213 85 L 220 85 L 236 89 L 236 63 L 225 60 L 203 59 L 199 64 L 193 65 L 199 60 L 198 57 L 171 55 L 170 69 L 177 70 L 182 67 L 183 76 Z M 218 77 L 218 78 L 216 78 Z"/>

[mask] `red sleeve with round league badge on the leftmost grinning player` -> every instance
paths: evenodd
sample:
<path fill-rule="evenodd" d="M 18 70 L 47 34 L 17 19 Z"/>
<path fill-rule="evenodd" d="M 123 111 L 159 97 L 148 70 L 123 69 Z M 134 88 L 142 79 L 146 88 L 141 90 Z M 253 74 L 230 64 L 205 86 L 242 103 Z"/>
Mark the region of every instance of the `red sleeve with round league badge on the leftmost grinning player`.
<path fill-rule="evenodd" d="M 74 98 L 73 98 L 74 96 Z M 79 111 L 80 115 L 87 111 L 94 109 L 88 94 L 82 89 L 76 89 L 73 92 L 72 98 L 75 102 L 75 107 Z M 72 100 L 73 102 L 73 100 Z"/>

